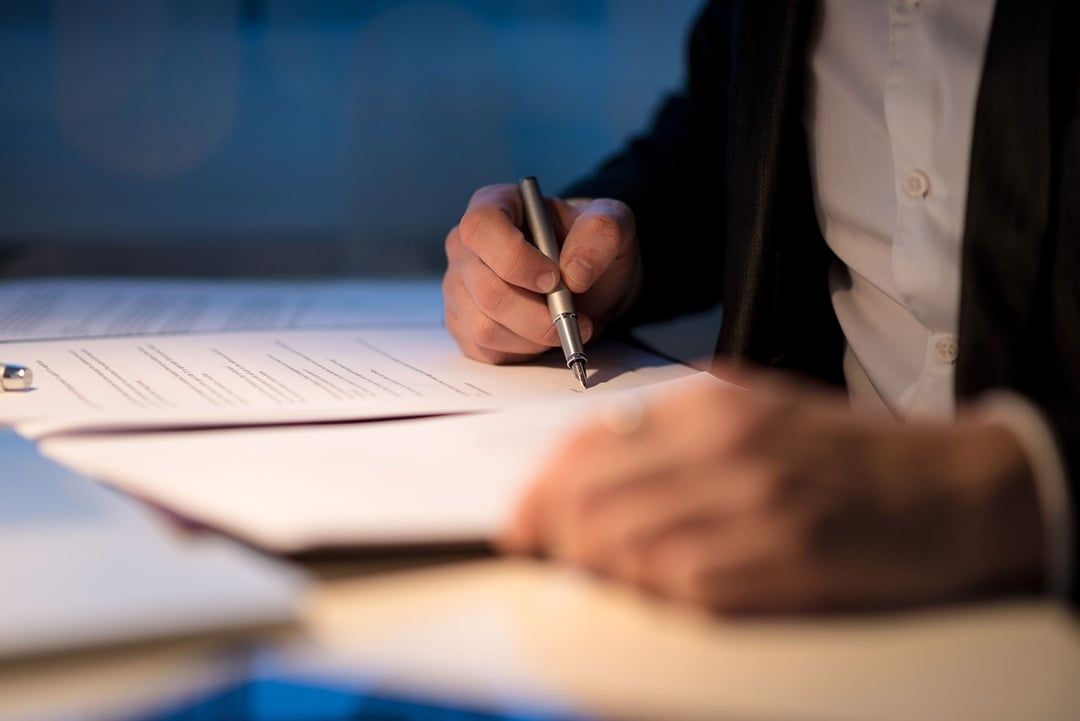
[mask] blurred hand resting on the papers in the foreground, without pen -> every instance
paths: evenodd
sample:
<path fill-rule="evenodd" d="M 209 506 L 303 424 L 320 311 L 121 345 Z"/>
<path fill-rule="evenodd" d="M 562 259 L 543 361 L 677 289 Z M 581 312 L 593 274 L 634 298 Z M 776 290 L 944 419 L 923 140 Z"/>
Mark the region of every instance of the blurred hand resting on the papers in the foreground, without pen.
<path fill-rule="evenodd" d="M 1039 577 L 1034 479 L 1005 428 L 856 419 L 838 394 L 750 380 L 578 433 L 504 547 L 733 613 L 887 608 Z"/>

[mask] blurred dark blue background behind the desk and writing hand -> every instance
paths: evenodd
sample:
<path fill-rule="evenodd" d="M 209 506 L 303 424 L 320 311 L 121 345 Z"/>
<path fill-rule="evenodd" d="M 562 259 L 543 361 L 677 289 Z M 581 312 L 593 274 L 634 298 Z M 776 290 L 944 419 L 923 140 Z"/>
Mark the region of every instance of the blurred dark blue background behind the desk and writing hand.
<path fill-rule="evenodd" d="M 699 0 L 4 0 L 0 273 L 431 274 L 681 79 Z"/>

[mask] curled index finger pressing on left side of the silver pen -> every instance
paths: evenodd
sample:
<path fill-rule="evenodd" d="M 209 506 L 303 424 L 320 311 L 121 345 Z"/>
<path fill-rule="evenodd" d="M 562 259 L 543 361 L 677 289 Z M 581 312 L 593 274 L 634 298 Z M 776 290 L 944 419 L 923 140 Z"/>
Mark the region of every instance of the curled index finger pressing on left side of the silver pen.
<path fill-rule="evenodd" d="M 549 293 L 558 284 L 558 268 L 526 240 L 522 214 L 516 186 L 482 188 L 458 226 L 461 243 L 507 283 Z"/>

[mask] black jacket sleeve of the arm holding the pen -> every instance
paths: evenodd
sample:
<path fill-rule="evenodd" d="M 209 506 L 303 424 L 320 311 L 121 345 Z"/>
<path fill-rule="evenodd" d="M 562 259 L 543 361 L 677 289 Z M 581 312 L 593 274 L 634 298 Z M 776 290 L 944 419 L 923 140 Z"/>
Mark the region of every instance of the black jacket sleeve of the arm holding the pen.
<path fill-rule="evenodd" d="M 685 87 L 663 103 L 648 132 L 563 193 L 613 198 L 634 212 L 644 273 L 626 323 L 672 317 L 720 300 L 727 4 L 710 2 L 702 11 L 690 37 Z"/>

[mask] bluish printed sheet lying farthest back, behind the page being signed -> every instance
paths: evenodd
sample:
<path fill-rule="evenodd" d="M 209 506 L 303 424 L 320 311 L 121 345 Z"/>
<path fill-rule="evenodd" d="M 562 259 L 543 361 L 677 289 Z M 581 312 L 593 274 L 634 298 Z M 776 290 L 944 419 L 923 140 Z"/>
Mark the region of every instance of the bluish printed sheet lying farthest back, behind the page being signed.
<path fill-rule="evenodd" d="M 442 325 L 437 281 L 44 278 L 0 283 L 0 342 Z"/>

